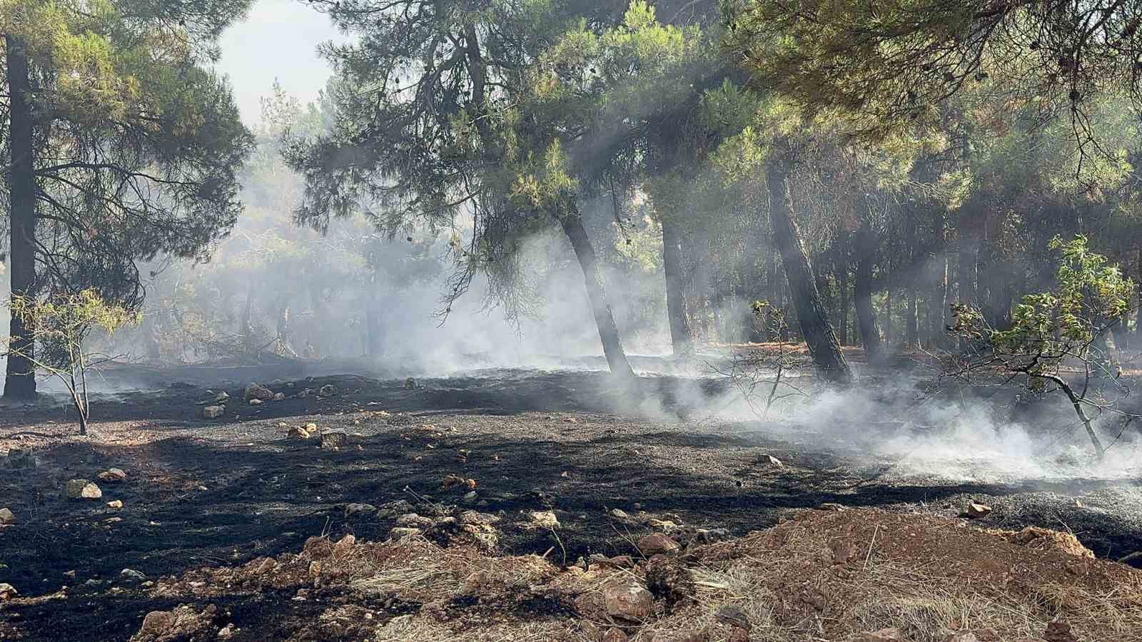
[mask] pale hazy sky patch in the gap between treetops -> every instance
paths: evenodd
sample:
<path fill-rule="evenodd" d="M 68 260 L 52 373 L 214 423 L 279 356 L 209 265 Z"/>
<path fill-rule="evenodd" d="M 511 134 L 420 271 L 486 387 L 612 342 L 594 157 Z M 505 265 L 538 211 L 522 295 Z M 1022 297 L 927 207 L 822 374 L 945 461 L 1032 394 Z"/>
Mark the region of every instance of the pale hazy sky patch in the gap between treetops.
<path fill-rule="evenodd" d="M 242 120 L 260 120 L 258 99 L 270 94 L 275 78 L 303 103 L 316 98 L 330 71 L 315 48 L 341 39 L 329 18 L 300 0 L 257 0 L 249 17 L 223 34 L 217 67 L 230 77 Z"/>

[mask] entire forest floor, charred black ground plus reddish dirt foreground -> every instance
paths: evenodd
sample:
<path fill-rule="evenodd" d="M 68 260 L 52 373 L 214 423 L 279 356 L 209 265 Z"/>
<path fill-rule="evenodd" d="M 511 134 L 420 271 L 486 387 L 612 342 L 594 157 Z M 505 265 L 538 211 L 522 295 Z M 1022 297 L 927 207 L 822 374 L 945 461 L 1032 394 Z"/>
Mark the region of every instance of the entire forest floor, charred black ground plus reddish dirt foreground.
<path fill-rule="evenodd" d="M 1142 641 L 1142 571 L 1115 561 L 1142 551 L 1136 476 L 726 420 L 714 380 L 259 372 L 287 398 L 254 407 L 248 374 L 151 372 L 186 383 L 106 395 L 83 438 L 0 409 L 0 640 Z M 288 436 L 308 423 L 347 443 Z"/>

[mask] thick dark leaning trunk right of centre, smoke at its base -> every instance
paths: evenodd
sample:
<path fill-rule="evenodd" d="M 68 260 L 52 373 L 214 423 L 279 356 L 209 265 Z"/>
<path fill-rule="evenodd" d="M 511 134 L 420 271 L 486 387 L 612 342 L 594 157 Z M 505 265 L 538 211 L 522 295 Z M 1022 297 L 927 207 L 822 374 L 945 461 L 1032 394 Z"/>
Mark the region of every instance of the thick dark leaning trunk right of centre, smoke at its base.
<path fill-rule="evenodd" d="M 809 256 L 801 242 L 801 231 L 789 210 L 789 199 L 786 193 L 785 171 L 781 163 L 771 161 L 766 170 L 770 190 L 770 226 L 773 230 L 773 243 L 781 254 L 786 276 L 789 279 L 789 290 L 797 308 L 797 320 L 801 332 L 805 337 L 813 362 L 822 375 L 834 382 L 847 383 L 852 379 L 852 370 L 841 352 L 837 335 L 829 324 L 828 313 L 821 302 L 821 292 L 817 289 L 813 271 L 809 265 Z"/>

